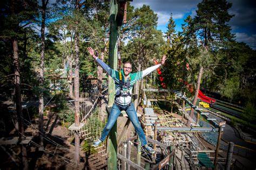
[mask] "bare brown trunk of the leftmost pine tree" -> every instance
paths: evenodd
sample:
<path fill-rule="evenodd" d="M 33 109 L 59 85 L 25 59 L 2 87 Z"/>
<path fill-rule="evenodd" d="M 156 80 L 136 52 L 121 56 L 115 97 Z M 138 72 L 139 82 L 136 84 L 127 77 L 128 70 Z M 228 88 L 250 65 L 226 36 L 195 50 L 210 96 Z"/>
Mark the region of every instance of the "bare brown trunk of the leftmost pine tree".
<path fill-rule="evenodd" d="M 19 141 L 25 140 L 24 136 L 24 119 L 22 113 L 22 103 L 21 103 L 21 75 L 19 72 L 19 56 L 18 56 L 18 42 L 16 39 L 12 40 L 12 47 L 14 48 L 14 82 L 15 82 L 15 104 L 16 104 L 16 114 L 18 119 L 19 127 Z M 22 154 L 22 168 L 29 169 L 28 158 L 26 155 L 26 147 L 21 145 Z"/>

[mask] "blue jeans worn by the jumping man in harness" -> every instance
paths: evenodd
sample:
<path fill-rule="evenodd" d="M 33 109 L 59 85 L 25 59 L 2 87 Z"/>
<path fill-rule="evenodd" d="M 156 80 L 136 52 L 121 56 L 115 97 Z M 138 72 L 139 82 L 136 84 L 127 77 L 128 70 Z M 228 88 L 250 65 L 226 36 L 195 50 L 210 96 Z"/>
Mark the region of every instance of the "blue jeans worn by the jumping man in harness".
<path fill-rule="evenodd" d="M 127 107 L 129 107 L 128 105 L 119 105 L 120 109 L 125 110 Z M 116 103 L 113 104 L 113 107 L 111 109 L 110 115 L 109 115 L 109 119 L 107 120 L 107 124 L 105 126 L 105 128 L 102 131 L 102 136 L 100 137 L 100 140 L 104 141 L 105 138 L 107 137 L 107 134 L 109 134 L 110 130 L 112 129 L 114 123 L 116 123 L 118 116 L 120 115 L 121 110 L 119 110 L 119 108 L 117 107 Z M 136 111 L 134 109 L 134 105 L 133 103 L 131 103 L 130 107 L 126 110 L 126 114 L 128 115 L 128 117 L 130 118 L 134 129 L 136 130 L 136 132 L 139 135 L 140 141 L 142 142 L 142 146 L 147 144 L 147 140 L 144 134 L 144 131 L 142 129 L 142 126 L 140 126 L 139 123 L 139 119 L 137 117 Z"/>

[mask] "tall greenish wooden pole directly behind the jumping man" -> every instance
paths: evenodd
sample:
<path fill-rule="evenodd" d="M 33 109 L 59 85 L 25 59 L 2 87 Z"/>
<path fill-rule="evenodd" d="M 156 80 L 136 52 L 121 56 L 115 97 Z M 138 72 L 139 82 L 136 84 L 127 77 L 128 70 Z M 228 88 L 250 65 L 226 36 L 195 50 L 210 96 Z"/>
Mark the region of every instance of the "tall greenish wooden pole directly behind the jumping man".
<path fill-rule="evenodd" d="M 117 11 L 118 4 L 116 0 L 110 1 L 110 40 L 109 40 L 109 66 L 117 69 Z M 114 81 L 109 77 L 109 106 L 114 103 Z M 107 139 L 107 169 L 117 169 L 117 123 L 109 133 Z"/>

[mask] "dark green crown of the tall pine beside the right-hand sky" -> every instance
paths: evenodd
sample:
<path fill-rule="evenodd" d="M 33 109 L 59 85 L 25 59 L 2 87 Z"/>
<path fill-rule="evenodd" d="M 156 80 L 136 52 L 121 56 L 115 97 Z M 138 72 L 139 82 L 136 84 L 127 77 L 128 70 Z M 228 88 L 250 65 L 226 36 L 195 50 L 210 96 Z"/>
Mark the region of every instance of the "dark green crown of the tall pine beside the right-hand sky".
<path fill-rule="evenodd" d="M 227 24 L 234 16 L 228 13 L 231 6 L 232 3 L 215 0 L 203 0 L 198 4 L 193 29 L 199 34 L 204 46 L 215 48 L 233 39 L 231 26 Z"/>

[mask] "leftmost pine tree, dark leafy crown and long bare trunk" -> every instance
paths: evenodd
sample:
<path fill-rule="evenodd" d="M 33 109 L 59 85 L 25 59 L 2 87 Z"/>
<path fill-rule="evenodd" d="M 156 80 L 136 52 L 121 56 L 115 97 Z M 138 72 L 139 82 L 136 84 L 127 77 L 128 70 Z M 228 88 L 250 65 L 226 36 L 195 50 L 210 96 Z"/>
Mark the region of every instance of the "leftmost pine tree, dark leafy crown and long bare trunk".
<path fill-rule="evenodd" d="M 1 31 L 0 38 L 3 44 L 9 44 L 12 48 L 11 58 L 13 59 L 14 68 L 14 91 L 15 91 L 15 105 L 16 115 L 18 121 L 18 136 L 19 141 L 22 143 L 25 140 L 24 136 L 24 117 L 22 112 L 21 103 L 21 58 L 19 53 L 18 42 L 24 36 L 24 27 L 31 24 L 31 19 L 35 15 L 35 9 L 37 9 L 37 3 L 35 1 L 22 2 L 22 1 L 4 1 L 5 10 L 4 15 L 1 15 Z M 33 6 L 33 7 L 32 7 Z M 36 7 L 36 8 L 35 8 Z M 21 144 L 22 162 L 21 168 L 29 169 L 28 158 L 26 153 L 26 147 Z"/>

